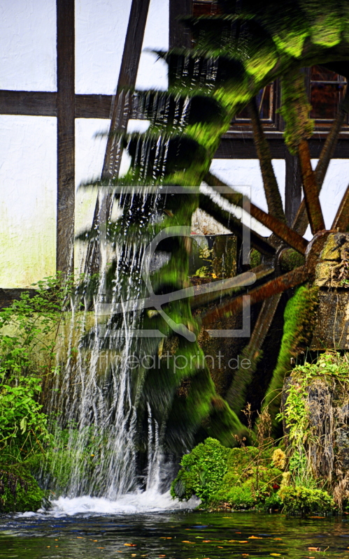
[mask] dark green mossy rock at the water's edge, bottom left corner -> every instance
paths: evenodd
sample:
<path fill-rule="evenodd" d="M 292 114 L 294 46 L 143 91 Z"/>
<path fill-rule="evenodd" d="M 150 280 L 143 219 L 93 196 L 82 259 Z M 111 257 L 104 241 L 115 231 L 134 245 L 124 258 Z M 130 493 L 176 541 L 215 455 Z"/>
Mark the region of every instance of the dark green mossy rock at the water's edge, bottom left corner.
<path fill-rule="evenodd" d="M 0 463 L 1 512 L 36 511 L 47 499 L 48 492 L 38 486 L 28 467 Z"/>

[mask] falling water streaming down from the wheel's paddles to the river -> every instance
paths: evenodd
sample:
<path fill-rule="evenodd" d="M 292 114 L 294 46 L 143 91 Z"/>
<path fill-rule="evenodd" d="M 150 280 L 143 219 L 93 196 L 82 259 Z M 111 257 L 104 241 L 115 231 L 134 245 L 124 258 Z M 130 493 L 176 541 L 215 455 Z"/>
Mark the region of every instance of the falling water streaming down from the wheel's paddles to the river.
<path fill-rule="evenodd" d="M 157 137 L 148 132 L 129 136 L 129 145 L 134 146 L 129 176 L 136 184 L 159 184 L 166 175 L 171 138 L 183 131 L 190 112 L 189 97 L 176 96 L 170 117 L 171 102 L 162 92 L 138 99 L 138 110 L 145 111 L 150 128 L 164 132 Z M 45 483 L 61 495 L 59 506 L 64 502 L 65 508 L 69 500 L 94 499 L 101 505 L 101 500 L 116 502 L 140 491 L 158 495 L 164 488 L 166 424 L 158 423 L 150 403 L 144 401 L 146 370 L 140 365 L 141 356 L 157 355 L 159 340 L 139 335 L 143 311 L 136 305 L 138 298 L 148 296 L 142 270 L 149 265 L 145 255 L 152 226 L 163 219 L 162 198 L 129 187 L 118 191 L 114 203 L 119 205 L 119 219 L 108 226 L 102 223 L 97 231 L 101 273 L 93 305 L 88 290 L 83 310 L 81 294 L 72 297 L 71 314 L 62 327 L 48 409 L 55 417 L 55 451 L 49 468 L 53 474 L 45 477 Z M 150 270 L 159 269 L 166 258 L 155 255 L 153 260 Z M 93 283 L 92 277 L 85 279 L 87 285 Z M 135 302 L 131 309 L 130 300 Z"/>

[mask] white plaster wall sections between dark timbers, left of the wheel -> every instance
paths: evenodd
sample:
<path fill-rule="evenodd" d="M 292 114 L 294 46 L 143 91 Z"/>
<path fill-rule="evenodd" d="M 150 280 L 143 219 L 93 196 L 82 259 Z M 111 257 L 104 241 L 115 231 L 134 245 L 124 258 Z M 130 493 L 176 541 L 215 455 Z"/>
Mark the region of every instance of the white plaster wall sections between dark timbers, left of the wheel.
<path fill-rule="evenodd" d="M 76 92 L 113 94 L 131 0 L 76 0 Z M 169 2 L 151 0 L 144 49 L 168 48 Z M 0 89 L 55 91 L 55 0 L 0 0 Z M 166 89 L 167 70 L 143 52 L 140 89 Z M 131 122 L 135 130 L 146 123 Z M 108 121 L 76 120 L 76 232 L 92 222 L 95 193 L 78 189 L 101 173 Z M 56 119 L 0 115 L 0 287 L 27 287 L 55 273 Z M 127 168 L 124 159 L 123 168 Z M 79 268 L 81 245 L 75 249 Z"/>

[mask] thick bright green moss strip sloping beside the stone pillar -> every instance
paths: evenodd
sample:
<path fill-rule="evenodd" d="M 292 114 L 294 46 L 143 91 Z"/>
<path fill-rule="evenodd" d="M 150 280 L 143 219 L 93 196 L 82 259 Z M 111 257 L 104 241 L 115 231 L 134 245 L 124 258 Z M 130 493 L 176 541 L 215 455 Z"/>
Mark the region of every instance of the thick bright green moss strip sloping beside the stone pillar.
<path fill-rule="evenodd" d="M 315 326 L 315 313 L 318 307 L 318 288 L 308 285 L 300 286 L 285 308 L 285 323 L 281 341 L 278 363 L 266 391 L 264 408 L 269 408 L 273 420 L 273 433 L 278 433 L 279 423 L 276 414 L 280 409 L 281 391 L 287 372 L 292 370 L 291 358 L 305 349 L 311 340 Z"/>

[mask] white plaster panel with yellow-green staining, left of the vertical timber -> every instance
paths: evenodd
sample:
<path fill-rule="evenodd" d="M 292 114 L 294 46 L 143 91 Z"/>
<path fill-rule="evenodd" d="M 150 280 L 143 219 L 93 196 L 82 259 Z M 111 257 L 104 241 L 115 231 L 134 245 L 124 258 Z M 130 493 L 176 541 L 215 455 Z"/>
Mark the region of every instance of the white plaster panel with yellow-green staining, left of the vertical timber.
<path fill-rule="evenodd" d="M 55 274 L 56 122 L 0 115 L 1 287 Z"/>

